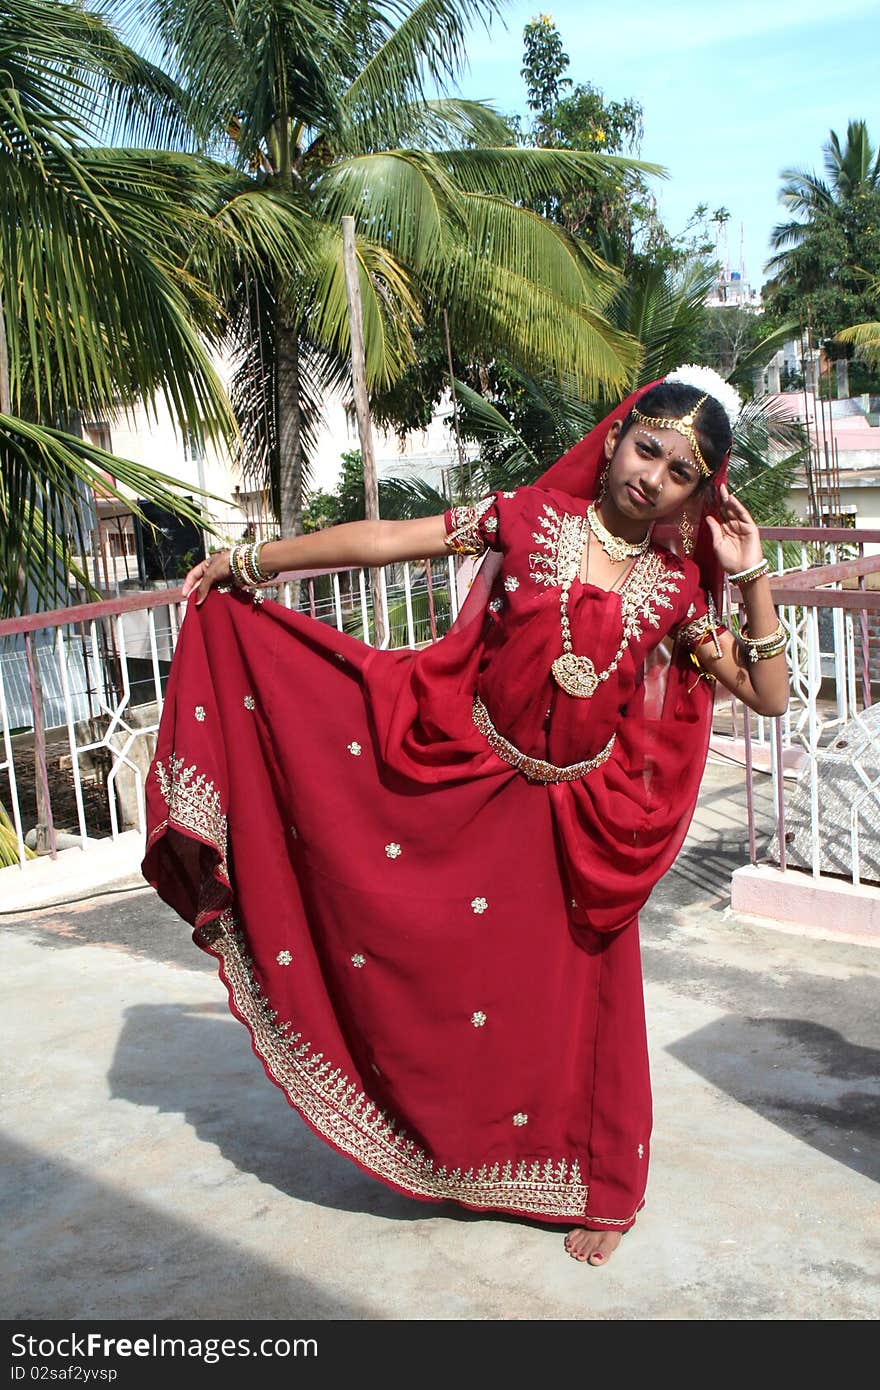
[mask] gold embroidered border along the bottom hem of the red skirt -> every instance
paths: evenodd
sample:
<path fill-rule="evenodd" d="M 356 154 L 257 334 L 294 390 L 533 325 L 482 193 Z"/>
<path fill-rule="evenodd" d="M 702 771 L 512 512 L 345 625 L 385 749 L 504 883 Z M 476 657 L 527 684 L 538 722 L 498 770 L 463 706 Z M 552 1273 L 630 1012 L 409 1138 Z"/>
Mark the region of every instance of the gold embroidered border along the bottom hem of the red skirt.
<path fill-rule="evenodd" d="M 470 1207 L 500 1207 L 532 1216 L 584 1218 L 588 1187 L 576 1159 L 484 1163 L 480 1169 L 437 1166 L 399 1122 L 334 1066 L 323 1052 L 279 1022 L 263 995 L 234 915 L 196 937 L 222 959 L 236 1012 L 250 1029 L 266 1068 L 310 1125 L 364 1168 L 416 1197 L 452 1198 Z"/>

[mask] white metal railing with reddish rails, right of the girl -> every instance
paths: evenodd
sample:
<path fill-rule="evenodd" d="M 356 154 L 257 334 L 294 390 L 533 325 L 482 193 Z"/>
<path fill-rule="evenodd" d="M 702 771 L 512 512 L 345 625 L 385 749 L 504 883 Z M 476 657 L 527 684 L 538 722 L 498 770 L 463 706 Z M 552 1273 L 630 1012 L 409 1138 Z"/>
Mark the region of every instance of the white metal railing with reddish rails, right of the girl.
<path fill-rule="evenodd" d="M 728 706 L 727 734 L 744 763 L 749 862 L 877 883 L 880 531 L 766 528 L 762 538 L 777 555 L 790 706 L 779 719 L 735 701 L 717 706 Z M 766 777 L 769 815 L 756 795 Z"/>

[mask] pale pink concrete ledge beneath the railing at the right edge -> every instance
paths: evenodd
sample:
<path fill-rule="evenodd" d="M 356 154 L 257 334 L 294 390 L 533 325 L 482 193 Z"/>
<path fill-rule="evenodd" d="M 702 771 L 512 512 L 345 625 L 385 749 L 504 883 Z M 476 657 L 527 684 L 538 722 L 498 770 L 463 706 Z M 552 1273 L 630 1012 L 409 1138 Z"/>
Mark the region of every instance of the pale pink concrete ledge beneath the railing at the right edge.
<path fill-rule="evenodd" d="M 745 865 L 730 881 L 731 912 L 824 941 L 880 945 L 880 888 L 798 869 Z"/>

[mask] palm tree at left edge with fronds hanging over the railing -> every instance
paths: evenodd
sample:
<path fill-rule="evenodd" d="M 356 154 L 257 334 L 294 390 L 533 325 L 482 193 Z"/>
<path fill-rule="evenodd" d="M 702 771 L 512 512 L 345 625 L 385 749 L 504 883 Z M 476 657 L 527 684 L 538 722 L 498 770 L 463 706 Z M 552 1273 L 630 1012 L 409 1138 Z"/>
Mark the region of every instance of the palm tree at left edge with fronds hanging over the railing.
<path fill-rule="evenodd" d="M 163 393 L 196 435 L 235 427 L 204 342 L 218 306 L 175 268 L 203 235 L 213 175 L 90 143 L 99 110 L 172 135 L 174 83 L 57 0 L 3 0 L 0 51 L 0 612 L 13 614 L 29 587 L 38 602 L 65 596 L 95 485 L 196 517 L 174 480 L 79 438 L 78 414 Z"/>

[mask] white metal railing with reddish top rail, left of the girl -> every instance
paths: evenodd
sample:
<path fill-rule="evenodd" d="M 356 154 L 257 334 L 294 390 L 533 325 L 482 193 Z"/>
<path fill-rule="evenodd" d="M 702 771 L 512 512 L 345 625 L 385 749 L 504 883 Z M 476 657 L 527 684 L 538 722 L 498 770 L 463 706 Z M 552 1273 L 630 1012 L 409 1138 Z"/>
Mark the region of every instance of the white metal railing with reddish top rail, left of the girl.
<path fill-rule="evenodd" d="M 386 645 L 437 641 L 459 610 L 466 570 L 446 560 L 381 575 Z M 370 641 L 368 573 L 314 570 L 282 580 L 298 607 Z M 0 805 L 25 863 L 25 821 L 53 858 L 101 835 L 145 828 L 145 778 L 182 621 L 181 589 L 157 589 L 0 621 Z M 4 785 L 6 774 L 6 785 Z"/>

